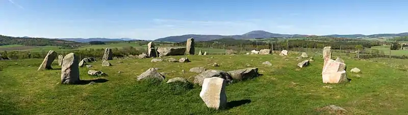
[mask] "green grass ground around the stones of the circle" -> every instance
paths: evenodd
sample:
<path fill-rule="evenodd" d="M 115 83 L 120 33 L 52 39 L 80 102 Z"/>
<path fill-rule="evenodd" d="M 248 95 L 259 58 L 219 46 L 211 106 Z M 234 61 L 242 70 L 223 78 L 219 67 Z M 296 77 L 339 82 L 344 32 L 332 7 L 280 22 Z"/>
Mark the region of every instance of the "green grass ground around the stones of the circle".
<path fill-rule="evenodd" d="M 407 72 L 382 62 L 344 58 L 351 82 L 323 84 L 322 59 L 315 57 L 310 66 L 300 69 L 296 56 L 187 56 L 190 63 L 126 59 L 112 60 L 110 67 L 102 67 L 98 61 L 91 63 L 92 69 L 108 76 L 95 78 L 87 75 L 86 67 L 80 68 L 82 80 L 107 80 L 95 85 L 61 85 L 61 70 L 37 71 L 41 59 L 0 61 L 0 114 L 327 114 L 318 109 L 331 104 L 345 108 L 345 114 L 408 112 Z M 262 65 L 264 61 L 270 61 L 272 66 Z M 220 67 L 212 67 L 214 62 Z M 199 86 L 187 89 L 165 84 L 175 77 L 193 81 L 192 76 L 197 73 L 188 70 L 199 66 L 225 71 L 258 67 L 264 75 L 228 85 L 228 108 L 213 110 L 200 99 Z M 53 67 L 60 68 L 56 61 Z M 166 73 L 166 80 L 136 81 L 136 76 L 150 67 L 159 67 L 159 72 Z M 350 73 L 353 67 L 363 73 Z"/>

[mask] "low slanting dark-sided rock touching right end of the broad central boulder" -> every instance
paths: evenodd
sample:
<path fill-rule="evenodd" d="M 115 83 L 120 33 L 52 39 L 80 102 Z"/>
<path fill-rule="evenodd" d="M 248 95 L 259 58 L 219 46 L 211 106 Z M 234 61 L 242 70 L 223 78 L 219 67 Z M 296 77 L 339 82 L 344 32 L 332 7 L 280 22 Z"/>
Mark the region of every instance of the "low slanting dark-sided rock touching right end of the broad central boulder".
<path fill-rule="evenodd" d="M 255 78 L 259 75 L 258 68 L 245 68 L 239 70 L 228 71 L 234 80 L 247 80 Z"/>

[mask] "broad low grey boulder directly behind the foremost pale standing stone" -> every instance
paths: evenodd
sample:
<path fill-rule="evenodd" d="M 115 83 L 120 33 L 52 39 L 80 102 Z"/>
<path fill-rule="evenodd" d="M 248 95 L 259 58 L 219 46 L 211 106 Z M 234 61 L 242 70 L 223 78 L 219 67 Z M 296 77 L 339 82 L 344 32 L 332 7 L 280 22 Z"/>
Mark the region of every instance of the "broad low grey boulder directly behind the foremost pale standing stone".
<path fill-rule="evenodd" d="M 201 86 L 204 79 L 212 78 L 212 77 L 222 78 L 225 81 L 227 81 L 227 83 L 232 83 L 233 82 L 233 78 L 227 72 L 221 71 L 221 70 L 212 70 L 212 69 L 210 69 L 210 70 L 206 70 L 206 71 L 201 72 L 200 74 L 194 76 L 194 84 L 198 84 L 198 85 Z"/>

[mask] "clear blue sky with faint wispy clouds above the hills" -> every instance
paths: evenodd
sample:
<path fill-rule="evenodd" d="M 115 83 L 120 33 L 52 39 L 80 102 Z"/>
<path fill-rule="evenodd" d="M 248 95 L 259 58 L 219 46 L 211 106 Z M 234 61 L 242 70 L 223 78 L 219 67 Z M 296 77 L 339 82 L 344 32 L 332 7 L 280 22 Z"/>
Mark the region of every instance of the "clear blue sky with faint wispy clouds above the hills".
<path fill-rule="evenodd" d="M 47 38 L 408 32 L 408 1 L 0 0 L 0 34 Z"/>

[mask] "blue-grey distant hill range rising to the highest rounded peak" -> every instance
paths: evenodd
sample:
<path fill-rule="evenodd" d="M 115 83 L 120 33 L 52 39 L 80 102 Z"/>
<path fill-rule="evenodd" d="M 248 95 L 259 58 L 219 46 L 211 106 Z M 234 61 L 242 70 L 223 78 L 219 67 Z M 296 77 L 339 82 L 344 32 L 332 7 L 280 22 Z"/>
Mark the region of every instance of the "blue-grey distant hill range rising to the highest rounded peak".
<path fill-rule="evenodd" d="M 187 34 L 187 35 L 180 35 L 180 36 L 168 36 L 161 39 L 157 39 L 155 41 L 162 41 L 162 42 L 184 42 L 187 39 L 194 37 L 195 41 L 211 41 L 216 39 L 222 39 L 225 37 L 230 37 L 233 39 L 254 39 L 254 38 L 270 38 L 270 37 L 299 37 L 299 36 L 307 36 L 307 35 L 300 35 L 300 34 L 278 34 L 278 33 L 270 33 L 263 30 L 254 30 L 242 35 L 200 35 L 200 34 Z"/>

